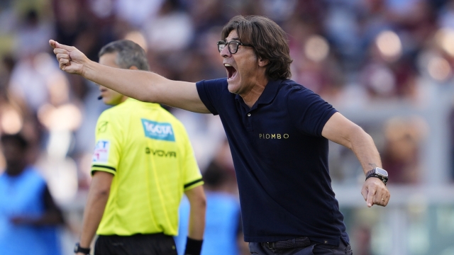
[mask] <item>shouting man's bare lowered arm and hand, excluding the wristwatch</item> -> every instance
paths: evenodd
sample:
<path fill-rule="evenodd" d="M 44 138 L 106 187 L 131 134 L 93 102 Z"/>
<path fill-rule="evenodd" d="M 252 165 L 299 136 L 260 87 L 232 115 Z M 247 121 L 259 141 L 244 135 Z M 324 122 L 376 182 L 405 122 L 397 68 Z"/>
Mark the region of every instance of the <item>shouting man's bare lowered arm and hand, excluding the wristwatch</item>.
<path fill-rule="evenodd" d="M 375 167 L 382 167 L 380 154 L 372 137 L 341 113 L 334 113 L 331 116 L 323 127 L 321 135 L 351 149 L 360 161 L 365 174 Z M 362 186 L 361 194 L 368 207 L 372 205 L 386 206 L 390 197 L 387 187 L 377 178 L 367 179 Z"/>

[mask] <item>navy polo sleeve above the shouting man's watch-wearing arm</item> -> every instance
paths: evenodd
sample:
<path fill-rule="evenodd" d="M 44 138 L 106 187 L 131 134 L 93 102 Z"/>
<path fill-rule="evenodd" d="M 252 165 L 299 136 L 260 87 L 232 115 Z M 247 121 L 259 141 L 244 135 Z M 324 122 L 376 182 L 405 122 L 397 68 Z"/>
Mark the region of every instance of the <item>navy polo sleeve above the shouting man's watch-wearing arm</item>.
<path fill-rule="evenodd" d="M 300 132 L 318 137 L 321 137 L 329 118 L 337 112 L 331 104 L 304 86 L 296 86 L 289 91 L 287 108 Z"/>

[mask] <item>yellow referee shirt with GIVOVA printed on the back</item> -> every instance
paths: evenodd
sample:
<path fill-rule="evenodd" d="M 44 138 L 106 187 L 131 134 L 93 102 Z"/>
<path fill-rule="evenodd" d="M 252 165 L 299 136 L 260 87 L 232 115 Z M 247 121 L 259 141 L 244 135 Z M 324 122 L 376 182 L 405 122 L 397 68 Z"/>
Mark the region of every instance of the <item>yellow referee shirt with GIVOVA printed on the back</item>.
<path fill-rule="evenodd" d="M 128 98 L 96 124 L 94 171 L 114 174 L 96 234 L 178 234 L 184 191 L 203 184 L 182 123 L 157 103 Z"/>

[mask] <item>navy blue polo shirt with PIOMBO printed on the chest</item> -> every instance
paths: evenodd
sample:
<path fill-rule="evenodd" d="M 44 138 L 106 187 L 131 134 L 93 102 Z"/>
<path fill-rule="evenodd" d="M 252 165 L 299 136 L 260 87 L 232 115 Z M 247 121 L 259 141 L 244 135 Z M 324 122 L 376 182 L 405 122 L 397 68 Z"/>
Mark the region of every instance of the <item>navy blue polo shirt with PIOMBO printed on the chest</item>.
<path fill-rule="evenodd" d="M 321 136 L 336 109 L 288 79 L 270 81 L 252 108 L 227 85 L 227 79 L 196 83 L 201 101 L 226 131 L 245 242 L 348 242 L 331 188 L 328 140 Z"/>

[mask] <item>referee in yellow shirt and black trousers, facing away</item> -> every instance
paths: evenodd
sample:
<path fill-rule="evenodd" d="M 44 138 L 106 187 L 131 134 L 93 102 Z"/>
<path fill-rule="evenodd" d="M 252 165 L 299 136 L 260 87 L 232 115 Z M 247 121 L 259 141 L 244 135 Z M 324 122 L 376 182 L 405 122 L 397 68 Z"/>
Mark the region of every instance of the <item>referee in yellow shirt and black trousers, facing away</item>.
<path fill-rule="evenodd" d="M 145 51 L 117 40 L 99 52 L 109 67 L 149 71 Z M 191 205 L 186 250 L 198 255 L 204 235 L 203 181 L 182 123 L 157 103 L 143 103 L 99 86 L 104 111 L 96 124 L 96 148 L 76 254 L 175 254 L 179 202 Z"/>

